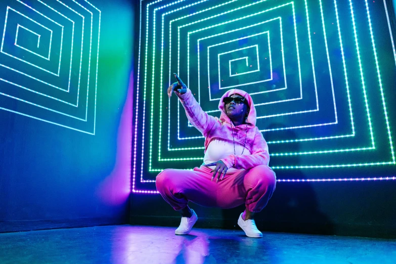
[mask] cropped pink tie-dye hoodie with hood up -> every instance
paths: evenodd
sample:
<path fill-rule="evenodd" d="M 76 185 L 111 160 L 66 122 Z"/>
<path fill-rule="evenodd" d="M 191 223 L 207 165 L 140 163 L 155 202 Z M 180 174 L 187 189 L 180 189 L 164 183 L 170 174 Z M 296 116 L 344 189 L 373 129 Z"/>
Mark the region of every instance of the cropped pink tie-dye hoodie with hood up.
<path fill-rule="evenodd" d="M 261 134 L 261 131 L 256 125 L 256 110 L 254 108 L 253 100 L 248 93 L 238 89 L 227 91 L 220 99 L 218 109 L 222 112 L 220 118 L 213 117 L 204 112 L 198 102 L 195 100 L 190 89 L 187 93 L 180 94 L 177 91 L 174 93 L 179 97 L 184 109 L 186 110 L 187 118 L 191 124 L 194 125 L 205 137 L 205 152 L 209 143 L 214 139 L 221 139 L 228 142 L 233 142 L 231 131 L 231 120 L 224 112 L 223 98 L 234 94 L 239 94 L 246 98 L 250 106 L 249 115 L 247 117 L 247 132 L 246 124 L 233 126 L 235 144 L 243 146 L 246 136 L 246 145 L 250 151 L 250 155 L 229 155 L 221 159 L 228 168 L 234 167 L 236 169 L 250 169 L 257 165 L 269 165 L 270 154 L 268 152 L 268 145 Z M 246 135 L 247 133 L 247 135 Z"/>

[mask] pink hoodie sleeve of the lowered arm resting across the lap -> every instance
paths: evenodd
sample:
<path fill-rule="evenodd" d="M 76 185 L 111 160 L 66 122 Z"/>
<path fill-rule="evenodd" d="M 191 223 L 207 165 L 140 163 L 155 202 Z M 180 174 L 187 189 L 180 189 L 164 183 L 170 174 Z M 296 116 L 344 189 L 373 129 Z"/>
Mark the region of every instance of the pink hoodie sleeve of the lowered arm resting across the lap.
<path fill-rule="evenodd" d="M 250 155 L 229 155 L 221 159 L 228 168 L 250 169 L 258 165 L 269 165 L 270 154 L 268 145 L 260 130 L 256 127 Z"/>

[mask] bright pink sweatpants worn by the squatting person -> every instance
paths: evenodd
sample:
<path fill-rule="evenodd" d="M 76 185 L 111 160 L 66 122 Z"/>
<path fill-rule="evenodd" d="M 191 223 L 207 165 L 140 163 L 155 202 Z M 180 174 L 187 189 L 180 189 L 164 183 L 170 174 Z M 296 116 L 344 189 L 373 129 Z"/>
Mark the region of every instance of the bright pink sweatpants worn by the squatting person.
<path fill-rule="evenodd" d="M 156 178 L 158 192 L 174 210 L 189 201 L 206 207 L 233 208 L 245 203 L 251 212 L 264 208 L 275 191 L 275 172 L 266 165 L 237 170 L 223 180 L 211 182 L 213 172 L 205 166 L 194 170 L 165 169 Z"/>

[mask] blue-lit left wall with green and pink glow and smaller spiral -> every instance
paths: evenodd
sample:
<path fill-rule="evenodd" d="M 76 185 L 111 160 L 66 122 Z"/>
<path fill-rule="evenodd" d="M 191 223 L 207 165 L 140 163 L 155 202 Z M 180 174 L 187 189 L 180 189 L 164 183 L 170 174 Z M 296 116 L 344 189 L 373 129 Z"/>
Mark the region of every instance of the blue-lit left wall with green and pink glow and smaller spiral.
<path fill-rule="evenodd" d="M 1 1 L 0 222 L 125 221 L 134 20 L 130 1 Z"/>

